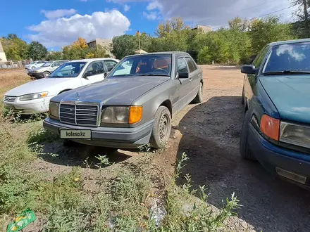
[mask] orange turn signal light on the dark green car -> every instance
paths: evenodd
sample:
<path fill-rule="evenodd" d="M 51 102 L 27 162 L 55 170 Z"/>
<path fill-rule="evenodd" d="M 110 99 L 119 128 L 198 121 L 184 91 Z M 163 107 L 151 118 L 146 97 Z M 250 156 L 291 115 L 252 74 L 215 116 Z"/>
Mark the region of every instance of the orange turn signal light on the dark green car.
<path fill-rule="evenodd" d="M 280 120 L 268 115 L 261 117 L 261 132 L 275 141 L 279 140 Z"/>

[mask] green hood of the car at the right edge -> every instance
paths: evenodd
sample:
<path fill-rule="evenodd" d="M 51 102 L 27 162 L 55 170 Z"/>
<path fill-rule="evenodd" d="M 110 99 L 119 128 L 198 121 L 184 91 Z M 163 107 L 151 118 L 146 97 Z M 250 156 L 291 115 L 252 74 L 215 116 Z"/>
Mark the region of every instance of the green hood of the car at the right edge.
<path fill-rule="evenodd" d="M 260 77 L 282 120 L 310 123 L 310 75 Z"/>

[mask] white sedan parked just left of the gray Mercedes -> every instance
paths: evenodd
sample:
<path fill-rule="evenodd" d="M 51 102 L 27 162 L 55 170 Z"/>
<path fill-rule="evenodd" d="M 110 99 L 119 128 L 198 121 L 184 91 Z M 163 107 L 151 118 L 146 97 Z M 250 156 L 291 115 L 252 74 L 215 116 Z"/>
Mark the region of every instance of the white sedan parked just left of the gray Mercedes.
<path fill-rule="evenodd" d="M 49 77 L 22 84 L 8 91 L 4 96 L 4 106 L 23 115 L 47 112 L 52 97 L 104 80 L 106 74 L 118 62 L 112 58 L 95 58 L 64 63 Z"/>

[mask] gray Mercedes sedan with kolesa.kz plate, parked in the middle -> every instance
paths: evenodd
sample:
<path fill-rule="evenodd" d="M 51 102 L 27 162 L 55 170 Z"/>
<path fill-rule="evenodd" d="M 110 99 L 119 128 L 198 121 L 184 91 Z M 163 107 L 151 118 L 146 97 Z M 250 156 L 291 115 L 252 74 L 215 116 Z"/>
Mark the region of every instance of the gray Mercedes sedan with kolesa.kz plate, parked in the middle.
<path fill-rule="evenodd" d="M 188 103 L 202 102 L 203 84 L 202 70 L 188 53 L 127 56 L 104 81 L 51 98 L 43 125 L 87 145 L 161 148 L 172 117 Z"/>

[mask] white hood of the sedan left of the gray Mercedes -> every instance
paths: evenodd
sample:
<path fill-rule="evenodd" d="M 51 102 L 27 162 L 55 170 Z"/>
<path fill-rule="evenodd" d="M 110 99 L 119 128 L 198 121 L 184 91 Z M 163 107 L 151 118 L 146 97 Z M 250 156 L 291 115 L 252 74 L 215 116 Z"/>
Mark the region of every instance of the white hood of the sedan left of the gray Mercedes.
<path fill-rule="evenodd" d="M 71 86 L 68 82 L 71 82 L 74 78 L 44 78 L 38 79 L 32 82 L 27 82 L 17 86 L 14 89 L 6 92 L 6 96 L 22 96 L 25 94 L 39 93 L 43 91 L 49 91 L 49 96 L 58 94 L 58 89 L 65 89 L 63 86 Z M 58 88 L 59 87 L 59 88 Z"/>

